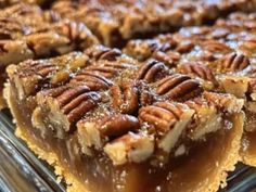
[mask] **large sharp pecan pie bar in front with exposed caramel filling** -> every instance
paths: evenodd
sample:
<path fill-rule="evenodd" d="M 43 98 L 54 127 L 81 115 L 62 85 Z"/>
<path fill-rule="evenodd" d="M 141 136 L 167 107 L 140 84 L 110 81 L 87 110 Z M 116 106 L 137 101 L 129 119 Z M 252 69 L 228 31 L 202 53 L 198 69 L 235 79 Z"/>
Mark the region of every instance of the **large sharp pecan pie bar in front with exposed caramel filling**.
<path fill-rule="evenodd" d="M 68 191 L 217 191 L 240 157 L 244 100 L 156 60 L 93 46 L 8 75 L 16 135 Z"/>

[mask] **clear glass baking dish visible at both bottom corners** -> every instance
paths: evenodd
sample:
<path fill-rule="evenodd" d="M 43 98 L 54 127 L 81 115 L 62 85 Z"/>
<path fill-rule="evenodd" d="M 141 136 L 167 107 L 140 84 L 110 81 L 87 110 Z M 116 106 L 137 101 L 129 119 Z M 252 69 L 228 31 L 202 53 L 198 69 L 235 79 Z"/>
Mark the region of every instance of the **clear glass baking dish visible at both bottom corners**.
<path fill-rule="evenodd" d="M 10 112 L 0 112 L 0 191 L 65 192 L 53 169 L 14 136 Z M 238 164 L 219 192 L 256 192 L 256 168 Z"/>

